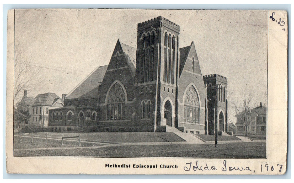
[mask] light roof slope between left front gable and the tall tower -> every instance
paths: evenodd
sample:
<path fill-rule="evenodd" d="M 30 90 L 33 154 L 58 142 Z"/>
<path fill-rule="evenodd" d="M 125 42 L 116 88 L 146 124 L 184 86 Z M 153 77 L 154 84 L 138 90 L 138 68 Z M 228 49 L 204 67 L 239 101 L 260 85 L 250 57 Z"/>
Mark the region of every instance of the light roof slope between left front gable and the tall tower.
<path fill-rule="evenodd" d="M 133 74 L 133 76 L 135 76 L 136 73 L 136 51 L 137 49 L 134 47 L 131 47 L 129 45 L 121 44 L 121 48 L 123 49 L 123 52 L 126 54 L 127 56 L 127 62 L 128 62 L 128 66 L 131 69 L 131 72 Z"/>

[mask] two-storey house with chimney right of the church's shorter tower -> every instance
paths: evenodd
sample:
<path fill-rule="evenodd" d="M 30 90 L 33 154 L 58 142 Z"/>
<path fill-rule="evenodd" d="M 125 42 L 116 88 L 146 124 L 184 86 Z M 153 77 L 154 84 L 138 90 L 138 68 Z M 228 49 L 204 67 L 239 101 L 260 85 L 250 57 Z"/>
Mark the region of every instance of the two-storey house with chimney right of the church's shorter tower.
<path fill-rule="evenodd" d="M 260 106 L 254 109 L 248 109 L 247 113 L 245 110 L 235 115 L 237 117 L 237 132 L 236 134 L 266 134 L 266 112 L 267 109 L 260 102 Z"/>

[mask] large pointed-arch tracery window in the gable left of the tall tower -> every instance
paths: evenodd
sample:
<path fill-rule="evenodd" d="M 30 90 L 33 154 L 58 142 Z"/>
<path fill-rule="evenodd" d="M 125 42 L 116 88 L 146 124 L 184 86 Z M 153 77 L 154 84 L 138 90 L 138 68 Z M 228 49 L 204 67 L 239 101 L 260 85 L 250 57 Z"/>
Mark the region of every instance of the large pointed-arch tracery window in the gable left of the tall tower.
<path fill-rule="evenodd" d="M 125 104 L 126 95 L 123 91 L 123 87 L 115 83 L 108 95 L 106 120 L 124 120 Z"/>

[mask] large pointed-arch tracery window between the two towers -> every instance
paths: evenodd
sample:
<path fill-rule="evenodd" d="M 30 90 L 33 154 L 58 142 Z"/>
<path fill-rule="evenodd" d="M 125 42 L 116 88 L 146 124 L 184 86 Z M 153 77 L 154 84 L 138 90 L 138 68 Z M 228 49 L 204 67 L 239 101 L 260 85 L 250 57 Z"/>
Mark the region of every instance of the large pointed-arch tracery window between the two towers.
<path fill-rule="evenodd" d="M 193 86 L 188 88 L 185 95 L 184 122 L 199 123 L 199 98 Z"/>

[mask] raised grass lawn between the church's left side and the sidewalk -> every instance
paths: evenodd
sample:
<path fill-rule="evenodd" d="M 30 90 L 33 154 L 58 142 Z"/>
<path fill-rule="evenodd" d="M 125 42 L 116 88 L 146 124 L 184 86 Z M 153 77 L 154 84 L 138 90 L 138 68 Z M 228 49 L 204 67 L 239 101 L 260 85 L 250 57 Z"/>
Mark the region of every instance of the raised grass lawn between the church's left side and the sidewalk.
<path fill-rule="evenodd" d="M 93 133 L 48 133 L 50 138 L 59 138 L 64 136 L 78 136 L 81 134 L 81 140 L 93 142 L 181 142 L 184 141 L 178 135 L 171 132 L 93 132 Z M 28 134 L 30 135 L 30 134 Z M 46 133 L 35 133 L 34 136 L 46 137 Z"/>

